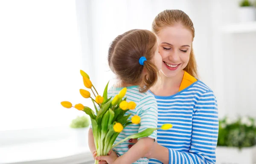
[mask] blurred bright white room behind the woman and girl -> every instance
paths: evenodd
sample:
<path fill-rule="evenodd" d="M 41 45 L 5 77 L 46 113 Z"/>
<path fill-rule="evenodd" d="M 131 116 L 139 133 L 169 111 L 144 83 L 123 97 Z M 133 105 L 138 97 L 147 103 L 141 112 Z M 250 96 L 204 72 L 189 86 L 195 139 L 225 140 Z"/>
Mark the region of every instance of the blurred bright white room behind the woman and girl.
<path fill-rule="evenodd" d="M 151 30 L 165 9 L 183 10 L 194 23 L 200 80 L 218 101 L 217 163 L 256 163 L 255 6 L 253 0 L 0 0 L 0 164 L 90 164 L 88 119 L 60 102 L 91 106 L 79 94 L 79 70 L 102 93 L 114 78 L 111 41 L 130 29 Z"/>

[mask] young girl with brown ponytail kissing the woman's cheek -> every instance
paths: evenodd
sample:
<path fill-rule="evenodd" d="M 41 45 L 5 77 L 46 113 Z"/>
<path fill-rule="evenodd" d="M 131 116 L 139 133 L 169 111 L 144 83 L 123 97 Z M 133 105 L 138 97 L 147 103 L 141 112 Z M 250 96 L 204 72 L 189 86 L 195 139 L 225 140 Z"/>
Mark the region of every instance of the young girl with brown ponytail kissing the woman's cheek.
<path fill-rule="evenodd" d="M 162 58 L 158 52 L 157 38 L 148 31 L 134 29 L 125 32 L 113 40 L 108 54 L 108 63 L 116 74 L 119 82 L 108 91 L 108 97 L 114 97 L 126 87 L 127 101 L 134 101 L 137 106 L 129 110 L 126 115 L 140 116 L 140 124 L 131 124 L 125 127 L 116 138 L 116 142 L 128 135 L 141 132 L 146 128 L 157 127 L 157 101 L 148 92 L 148 89 L 157 81 L 158 71 L 162 66 Z M 89 130 L 89 147 L 93 156 L 96 156 L 93 133 Z M 157 139 L 157 132 L 145 138 L 138 138 L 137 144 L 130 150 L 128 141 L 113 149 L 119 156 L 106 156 L 108 164 L 147 164 L 145 154 L 151 149 Z M 97 159 L 97 157 L 96 157 Z"/>

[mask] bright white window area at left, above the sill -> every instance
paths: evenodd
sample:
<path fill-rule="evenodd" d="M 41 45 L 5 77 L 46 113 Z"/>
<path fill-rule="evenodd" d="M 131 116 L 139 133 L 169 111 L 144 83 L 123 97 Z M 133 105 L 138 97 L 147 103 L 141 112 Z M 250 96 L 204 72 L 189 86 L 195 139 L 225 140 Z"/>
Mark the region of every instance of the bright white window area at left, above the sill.
<path fill-rule="evenodd" d="M 79 69 L 74 1 L 0 1 L 0 131 L 68 126 L 81 113 L 60 102 L 83 101 Z"/>

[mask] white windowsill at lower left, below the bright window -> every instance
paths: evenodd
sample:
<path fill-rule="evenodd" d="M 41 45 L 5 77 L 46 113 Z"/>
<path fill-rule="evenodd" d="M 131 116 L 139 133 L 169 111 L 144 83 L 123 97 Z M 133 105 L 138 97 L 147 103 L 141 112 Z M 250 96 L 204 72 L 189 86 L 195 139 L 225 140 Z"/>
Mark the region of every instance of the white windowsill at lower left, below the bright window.
<path fill-rule="evenodd" d="M 93 163 L 87 143 L 83 143 L 86 146 L 79 145 L 73 135 L 62 139 L 3 145 L 0 147 L 0 164 Z"/>

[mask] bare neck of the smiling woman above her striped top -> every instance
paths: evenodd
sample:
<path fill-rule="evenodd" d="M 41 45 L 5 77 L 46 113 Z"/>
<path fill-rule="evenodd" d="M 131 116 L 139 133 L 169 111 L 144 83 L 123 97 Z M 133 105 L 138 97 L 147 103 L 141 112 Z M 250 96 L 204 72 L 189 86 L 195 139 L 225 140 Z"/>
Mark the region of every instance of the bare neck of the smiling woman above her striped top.
<path fill-rule="evenodd" d="M 159 96 L 171 96 L 176 94 L 179 91 L 184 71 L 179 72 L 174 77 L 166 77 L 161 71 L 159 73 L 160 78 L 157 83 L 150 89 L 151 92 Z"/>

